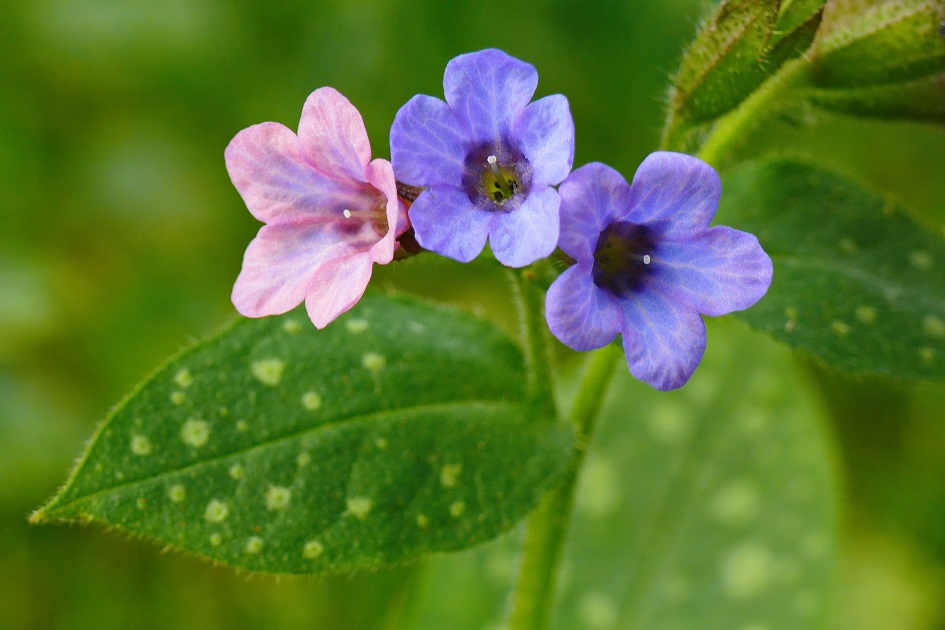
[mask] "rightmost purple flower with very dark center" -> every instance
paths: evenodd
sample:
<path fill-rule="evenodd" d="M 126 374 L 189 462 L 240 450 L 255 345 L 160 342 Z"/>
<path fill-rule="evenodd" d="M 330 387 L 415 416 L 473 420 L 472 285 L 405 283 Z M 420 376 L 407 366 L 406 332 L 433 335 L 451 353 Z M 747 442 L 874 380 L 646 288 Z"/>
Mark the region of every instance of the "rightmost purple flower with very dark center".
<path fill-rule="evenodd" d="M 771 284 L 771 259 L 754 236 L 709 227 L 722 185 L 697 158 L 653 153 L 632 186 L 588 164 L 560 194 L 558 244 L 577 264 L 548 290 L 548 326 L 575 350 L 620 333 L 630 372 L 657 389 L 681 387 L 702 360 L 700 313 L 748 308 Z"/>

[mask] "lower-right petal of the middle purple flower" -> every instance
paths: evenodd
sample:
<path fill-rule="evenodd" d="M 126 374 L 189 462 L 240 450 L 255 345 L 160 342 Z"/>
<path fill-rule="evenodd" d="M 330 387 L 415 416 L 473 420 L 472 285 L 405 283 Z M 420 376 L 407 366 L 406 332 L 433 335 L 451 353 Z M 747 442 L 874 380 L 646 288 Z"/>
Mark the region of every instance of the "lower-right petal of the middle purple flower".
<path fill-rule="evenodd" d="M 558 243 L 558 207 L 554 188 L 532 190 L 515 210 L 497 212 L 489 230 L 492 252 L 507 267 L 524 267 L 550 256 Z"/>

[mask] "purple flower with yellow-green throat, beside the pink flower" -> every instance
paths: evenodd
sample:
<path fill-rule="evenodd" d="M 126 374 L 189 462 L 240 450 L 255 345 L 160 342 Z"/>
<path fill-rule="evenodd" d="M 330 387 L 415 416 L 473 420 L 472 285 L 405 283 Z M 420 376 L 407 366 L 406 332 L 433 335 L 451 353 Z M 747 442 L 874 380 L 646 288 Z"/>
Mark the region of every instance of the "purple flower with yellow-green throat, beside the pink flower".
<path fill-rule="evenodd" d="M 446 102 L 417 95 L 390 132 L 397 179 L 425 190 L 410 208 L 423 247 L 462 262 L 489 239 L 504 265 L 551 254 L 560 198 L 551 186 L 571 170 L 574 122 L 564 96 L 529 104 L 538 73 L 500 50 L 446 66 Z"/>

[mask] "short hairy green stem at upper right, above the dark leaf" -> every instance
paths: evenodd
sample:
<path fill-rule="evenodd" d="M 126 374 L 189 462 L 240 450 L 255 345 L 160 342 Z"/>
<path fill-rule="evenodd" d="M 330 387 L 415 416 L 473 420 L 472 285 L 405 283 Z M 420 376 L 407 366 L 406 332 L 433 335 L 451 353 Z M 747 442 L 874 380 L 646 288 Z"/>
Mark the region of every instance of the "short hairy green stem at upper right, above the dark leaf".
<path fill-rule="evenodd" d="M 720 168 L 731 154 L 762 123 L 770 119 L 807 83 L 809 62 L 798 57 L 785 63 L 774 76 L 761 84 L 741 105 L 723 116 L 699 150 L 698 157 Z M 794 93 L 792 93 L 794 92 Z"/>

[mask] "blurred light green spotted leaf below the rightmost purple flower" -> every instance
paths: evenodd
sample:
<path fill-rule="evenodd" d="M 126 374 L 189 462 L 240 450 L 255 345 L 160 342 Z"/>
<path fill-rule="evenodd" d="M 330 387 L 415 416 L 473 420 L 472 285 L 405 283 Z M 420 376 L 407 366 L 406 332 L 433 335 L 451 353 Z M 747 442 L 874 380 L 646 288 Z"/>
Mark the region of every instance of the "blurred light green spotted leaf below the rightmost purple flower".
<path fill-rule="evenodd" d="M 680 390 L 618 370 L 576 497 L 558 628 L 823 628 L 837 479 L 790 353 L 709 322 Z"/>

